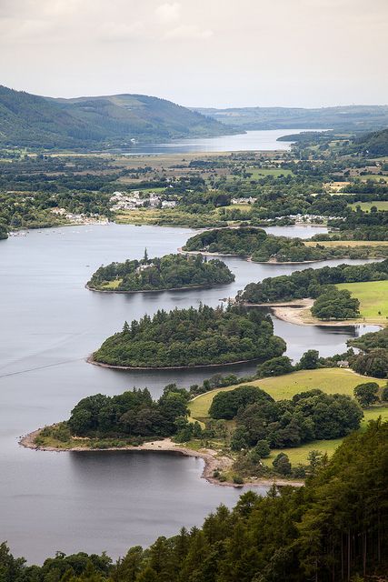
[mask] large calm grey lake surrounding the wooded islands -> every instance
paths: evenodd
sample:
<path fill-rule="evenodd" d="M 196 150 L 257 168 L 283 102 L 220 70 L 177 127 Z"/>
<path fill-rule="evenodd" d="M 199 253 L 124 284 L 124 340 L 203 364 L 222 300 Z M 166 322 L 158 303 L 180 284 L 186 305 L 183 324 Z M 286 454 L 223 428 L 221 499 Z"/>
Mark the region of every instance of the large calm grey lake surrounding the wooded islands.
<path fill-rule="evenodd" d="M 241 494 L 200 479 L 200 459 L 168 453 L 46 453 L 17 445 L 19 436 L 68 417 L 84 396 L 118 394 L 132 386 L 148 386 L 159 396 L 167 383 L 190 386 L 214 374 L 214 368 L 129 373 L 86 364 L 85 357 L 125 319 L 161 307 L 215 306 L 251 281 L 305 268 L 224 257 L 236 276 L 230 286 L 134 296 L 85 289 L 101 264 L 139 258 L 145 246 L 149 256 L 175 252 L 193 232 L 75 226 L 31 231 L 0 243 L 0 540 L 8 540 L 15 555 L 30 562 L 56 550 L 122 556 L 130 546 L 200 525 L 209 511 L 220 503 L 232 507 Z M 276 232 L 307 237 L 319 229 L 279 227 Z M 293 358 L 308 348 L 323 356 L 340 352 L 349 337 L 373 329 L 293 326 L 277 319 L 274 326 Z M 245 374 L 254 366 L 227 369 Z"/>

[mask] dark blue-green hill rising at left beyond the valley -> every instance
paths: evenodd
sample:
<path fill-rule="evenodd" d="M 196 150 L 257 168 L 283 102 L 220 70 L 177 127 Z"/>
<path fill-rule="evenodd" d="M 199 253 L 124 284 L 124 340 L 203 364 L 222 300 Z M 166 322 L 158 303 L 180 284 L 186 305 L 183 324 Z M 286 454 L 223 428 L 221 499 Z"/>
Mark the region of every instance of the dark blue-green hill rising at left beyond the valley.
<path fill-rule="evenodd" d="M 231 134 L 218 121 L 147 95 L 54 99 L 0 85 L 0 146 L 124 146 L 131 139 Z"/>

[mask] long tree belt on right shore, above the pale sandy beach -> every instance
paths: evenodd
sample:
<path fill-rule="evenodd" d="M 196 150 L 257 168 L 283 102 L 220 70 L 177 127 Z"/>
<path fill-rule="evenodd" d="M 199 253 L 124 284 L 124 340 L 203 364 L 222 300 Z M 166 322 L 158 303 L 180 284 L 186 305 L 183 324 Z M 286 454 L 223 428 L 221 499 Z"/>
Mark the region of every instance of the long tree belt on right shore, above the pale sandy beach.
<path fill-rule="evenodd" d="M 245 303 L 275 303 L 321 295 L 327 286 L 339 283 L 383 281 L 388 279 L 388 260 L 366 265 L 323 266 L 303 269 L 292 275 L 268 277 L 259 283 L 250 283 L 239 294 Z"/>

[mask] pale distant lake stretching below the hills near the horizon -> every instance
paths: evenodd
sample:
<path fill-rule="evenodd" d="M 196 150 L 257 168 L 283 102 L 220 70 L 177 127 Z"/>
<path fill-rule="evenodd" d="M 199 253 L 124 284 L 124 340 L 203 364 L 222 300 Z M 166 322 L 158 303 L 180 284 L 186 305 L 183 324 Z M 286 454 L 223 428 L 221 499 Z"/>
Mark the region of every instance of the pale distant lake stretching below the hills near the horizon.
<path fill-rule="evenodd" d="M 302 134 L 306 131 L 324 131 L 324 129 L 265 129 L 247 131 L 245 134 L 220 135 L 218 137 L 198 137 L 181 139 L 166 144 L 134 144 L 127 156 L 138 154 L 190 154 L 195 152 L 252 152 L 254 150 L 274 151 L 288 150 L 292 142 L 278 142 L 283 135 Z"/>

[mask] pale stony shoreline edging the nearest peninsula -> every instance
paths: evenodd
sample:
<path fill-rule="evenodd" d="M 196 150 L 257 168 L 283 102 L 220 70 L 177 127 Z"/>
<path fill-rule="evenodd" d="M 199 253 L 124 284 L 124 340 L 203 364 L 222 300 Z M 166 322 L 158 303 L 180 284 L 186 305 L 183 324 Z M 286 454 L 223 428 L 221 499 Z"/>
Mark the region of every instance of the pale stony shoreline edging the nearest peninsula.
<path fill-rule="evenodd" d="M 38 447 L 35 445 L 35 437 L 39 436 L 39 433 L 43 430 L 38 428 L 37 430 L 28 433 L 24 437 L 21 437 L 18 441 L 20 447 L 29 448 L 35 451 L 46 451 L 46 452 L 56 452 L 56 453 L 85 453 L 85 452 L 104 452 L 104 451 L 154 451 L 156 453 L 174 453 L 176 455 L 182 455 L 184 457 L 195 457 L 201 458 L 204 461 L 204 470 L 201 474 L 201 478 L 208 481 L 212 485 L 224 486 L 224 487 L 271 487 L 274 484 L 284 487 L 303 487 L 304 482 L 302 480 L 292 480 L 282 478 L 269 478 L 269 477 L 258 477 L 252 478 L 246 483 L 240 485 L 233 483 L 232 481 L 219 481 L 217 478 L 213 477 L 213 473 L 216 469 L 227 470 L 233 465 L 233 459 L 230 457 L 216 457 L 217 452 L 214 449 L 201 449 L 196 451 L 192 448 L 183 447 L 182 445 L 175 445 L 171 438 L 164 438 L 160 440 L 154 440 L 138 447 L 127 446 L 127 447 L 108 447 L 108 448 L 90 448 L 90 447 L 70 447 L 70 448 L 57 448 L 57 447 Z"/>

